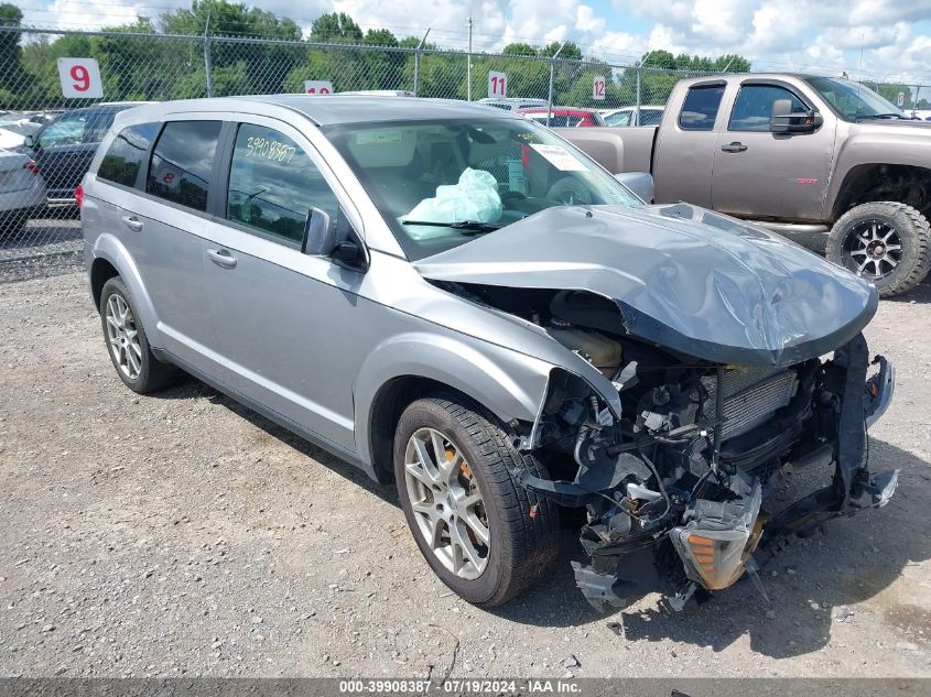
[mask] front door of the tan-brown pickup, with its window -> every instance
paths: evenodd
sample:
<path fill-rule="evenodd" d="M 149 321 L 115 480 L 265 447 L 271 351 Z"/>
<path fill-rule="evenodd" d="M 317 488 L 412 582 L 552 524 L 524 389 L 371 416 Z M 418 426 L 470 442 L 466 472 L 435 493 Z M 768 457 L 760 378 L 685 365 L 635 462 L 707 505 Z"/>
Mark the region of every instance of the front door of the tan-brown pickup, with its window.
<path fill-rule="evenodd" d="M 744 218 L 820 220 L 834 151 L 833 120 L 813 133 L 771 133 L 772 102 L 813 108 L 789 84 L 745 80 L 717 137 L 712 205 Z"/>

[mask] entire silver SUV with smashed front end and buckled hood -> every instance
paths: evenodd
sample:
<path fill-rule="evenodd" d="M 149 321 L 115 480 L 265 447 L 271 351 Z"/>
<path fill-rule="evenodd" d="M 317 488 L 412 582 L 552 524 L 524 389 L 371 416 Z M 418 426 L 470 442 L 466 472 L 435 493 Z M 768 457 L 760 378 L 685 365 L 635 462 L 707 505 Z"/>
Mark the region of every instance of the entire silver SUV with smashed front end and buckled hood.
<path fill-rule="evenodd" d="M 875 288 L 765 230 L 647 206 L 519 116 L 151 105 L 117 117 L 78 200 L 120 379 L 190 373 L 393 480 L 470 602 L 549 574 L 562 516 L 595 607 L 638 587 L 681 607 L 896 487 L 865 456 L 894 384 L 862 335 Z M 835 475 L 767 519 L 790 462 Z"/>

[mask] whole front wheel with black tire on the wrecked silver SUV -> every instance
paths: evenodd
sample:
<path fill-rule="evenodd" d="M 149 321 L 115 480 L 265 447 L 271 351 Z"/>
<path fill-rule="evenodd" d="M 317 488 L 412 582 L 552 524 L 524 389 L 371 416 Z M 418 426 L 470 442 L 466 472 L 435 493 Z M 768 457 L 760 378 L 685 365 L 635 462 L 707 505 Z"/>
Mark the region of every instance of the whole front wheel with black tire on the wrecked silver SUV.
<path fill-rule="evenodd" d="M 425 433 L 431 432 L 431 439 Z M 418 448 L 414 438 L 424 437 L 427 455 L 436 450 L 431 446 L 432 435 L 442 438 L 440 447 L 444 459 L 451 462 L 447 494 L 455 498 L 456 486 L 463 491 L 462 500 L 468 500 L 478 493 L 481 502 L 469 512 L 462 508 L 445 509 L 442 504 L 443 492 L 427 489 L 423 482 L 425 469 L 416 464 L 410 467 L 421 470 L 419 476 L 405 467 L 405 459 L 416 459 Z M 420 434 L 420 435 L 419 435 Z M 424 442 L 421 442 L 422 444 Z M 452 455 L 450 453 L 452 448 Z M 409 457 L 409 453 L 413 457 Z M 455 462 L 462 456 L 461 465 Z M 434 464 L 435 465 L 435 464 Z M 433 471 L 442 477 L 439 468 Z M 519 454 L 497 420 L 478 406 L 465 405 L 456 397 L 437 395 L 418 400 L 408 406 L 398 422 L 394 435 L 394 476 L 404 518 L 426 562 L 440 579 L 463 599 L 477 606 L 500 605 L 519 595 L 535 582 L 546 570 L 559 553 L 559 511 L 552 502 L 538 499 L 521 487 L 515 478 L 515 470 L 529 469 L 535 476 L 545 477 L 542 466 L 534 458 Z M 477 488 L 477 492 L 476 492 Z M 412 503 L 412 499 L 415 503 Z M 414 511 L 418 508 L 418 512 Z M 430 509 L 431 513 L 424 511 Z M 432 511 L 443 509 L 435 518 Z M 531 513 L 531 511 L 533 511 Z M 458 516 L 456 514 L 459 514 Z M 472 515 L 469 515 L 469 513 Z M 441 520 L 443 515 L 447 519 Z M 466 520 L 469 519 L 469 520 Z M 427 542 L 431 520 L 436 520 L 440 543 Z M 486 524 L 488 544 L 475 532 L 474 520 L 479 527 Z M 456 569 L 454 545 L 444 547 L 452 541 L 452 531 L 467 534 L 465 545 L 470 545 L 480 564 L 463 562 Z M 467 555 L 458 557 L 463 560 Z"/>

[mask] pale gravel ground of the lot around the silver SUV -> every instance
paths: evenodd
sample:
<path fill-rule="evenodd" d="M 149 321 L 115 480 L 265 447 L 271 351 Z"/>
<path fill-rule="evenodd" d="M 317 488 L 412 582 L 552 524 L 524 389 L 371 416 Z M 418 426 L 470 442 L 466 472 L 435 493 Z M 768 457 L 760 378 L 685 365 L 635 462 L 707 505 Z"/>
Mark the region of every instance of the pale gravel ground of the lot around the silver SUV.
<path fill-rule="evenodd" d="M 434 578 L 393 490 L 197 382 L 126 390 L 80 274 L 0 284 L 0 674 L 931 676 L 929 327 L 925 283 L 868 329 L 898 368 L 869 449 L 898 494 L 780 554 L 771 610 L 743 582 L 596 614 L 567 532 L 487 612 Z"/>

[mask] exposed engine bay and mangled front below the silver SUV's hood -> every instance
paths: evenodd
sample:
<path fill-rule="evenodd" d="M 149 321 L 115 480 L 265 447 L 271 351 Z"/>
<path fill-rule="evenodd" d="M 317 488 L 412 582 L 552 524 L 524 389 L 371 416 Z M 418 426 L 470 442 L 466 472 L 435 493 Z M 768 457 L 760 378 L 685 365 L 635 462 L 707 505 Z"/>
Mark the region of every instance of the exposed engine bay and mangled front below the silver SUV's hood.
<path fill-rule="evenodd" d="M 521 483 L 585 511 L 580 541 L 591 563 L 573 567 L 599 610 L 650 590 L 681 609 L 696 590 L 745 573 L 762 592 L 759 546 L 884 505 L 896 488 L 897 470 L 868 471 L 866 428 L 885 411 L 894 377 L 881 357 L 869 366 L 862 334 L 829 360 L 719 364 L 630 336 L 618 306 L 588 291 L 443 285 L 537 325 L 617 390 L 619 414 L 583 377 L 554 369 L 520 438 L 551 477 L 522 472 Z M 769 518 L 772 477 L 827 459 L 832 483 Z"/>

